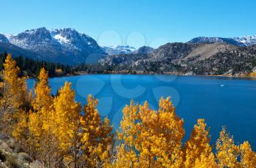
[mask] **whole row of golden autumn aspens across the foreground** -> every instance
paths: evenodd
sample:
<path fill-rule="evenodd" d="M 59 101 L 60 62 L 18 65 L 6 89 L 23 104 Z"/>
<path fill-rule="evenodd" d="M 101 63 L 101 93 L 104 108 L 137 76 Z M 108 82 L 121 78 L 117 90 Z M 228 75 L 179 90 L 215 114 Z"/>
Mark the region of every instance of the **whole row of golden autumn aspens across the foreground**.
<path fill-rule="evenodd" d="M 237 145 L 225 128 L 211 145 L 209 128 L 198 119 L 187 142 L 184 121 L 170 98 L 124 107 L 120 129 L 97 110 L 89 95 L 75 102 L 71 83 L 51 95 L 48 72 L 41 69 L 32 91 L 8 55 L 1 83 L 0 133 L 14 137 L 45 167 L 256 167 L 249 142 Z"/>

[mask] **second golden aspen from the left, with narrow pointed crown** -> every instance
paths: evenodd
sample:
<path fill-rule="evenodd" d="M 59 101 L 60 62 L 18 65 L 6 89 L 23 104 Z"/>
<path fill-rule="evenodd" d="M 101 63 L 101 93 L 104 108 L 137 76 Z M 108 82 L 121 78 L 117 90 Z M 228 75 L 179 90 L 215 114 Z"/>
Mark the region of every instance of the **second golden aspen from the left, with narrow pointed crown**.
<path fill-rule="evenodd" d="M 34 112 L 29 113 L 29 131 L 31 145 L 36 149 L 35 155 L 48 167 L 53 167 L 59 161 L 59 144 L 53 134 L 53 97 L 50 95 L 48 72 L 41 69 L 38 83 L 34 88 L 32 105 Z"/>

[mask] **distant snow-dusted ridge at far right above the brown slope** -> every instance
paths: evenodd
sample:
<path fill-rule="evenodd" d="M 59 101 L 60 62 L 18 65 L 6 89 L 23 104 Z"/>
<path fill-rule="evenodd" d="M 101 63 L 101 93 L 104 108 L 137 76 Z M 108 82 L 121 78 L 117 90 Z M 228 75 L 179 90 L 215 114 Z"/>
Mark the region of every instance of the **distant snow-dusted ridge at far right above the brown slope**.
<path fill-rule="evenodd" d="M 245 37 L 196 37 L 191 39 L 188 43 L 204 43 L 204 42 L 226 42 L 231 45 L 251 46 L 256 45 L 256 36 Z"/>

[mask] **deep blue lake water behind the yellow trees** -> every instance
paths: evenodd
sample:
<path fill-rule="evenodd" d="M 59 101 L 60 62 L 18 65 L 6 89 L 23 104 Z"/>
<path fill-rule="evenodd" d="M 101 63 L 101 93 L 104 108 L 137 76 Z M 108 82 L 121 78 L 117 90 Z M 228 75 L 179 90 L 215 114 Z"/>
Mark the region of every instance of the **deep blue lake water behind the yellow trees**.
<path fill-rule="evenodd" d="M 256 150 L 256 80 L 230 77 L 189 77 L 172 75 L 80 75 L 50 79 L 56 94 L 64 82 L 72 82 L 76 101 L 86 103 L 88 94 L 99 99 L 99 112 L 108 116 L 115 129 L 122 108 L 130 99 L 148 101 L 157 109 L 161 96 L 171 96 L 176 113 L 184 118 L 187 140 L 197 118 L 205 118 L 215 143 L 222 126 L 236 142 L 249 140 Z M 29 80 L 29 88 L 34 80 Z"/>

